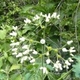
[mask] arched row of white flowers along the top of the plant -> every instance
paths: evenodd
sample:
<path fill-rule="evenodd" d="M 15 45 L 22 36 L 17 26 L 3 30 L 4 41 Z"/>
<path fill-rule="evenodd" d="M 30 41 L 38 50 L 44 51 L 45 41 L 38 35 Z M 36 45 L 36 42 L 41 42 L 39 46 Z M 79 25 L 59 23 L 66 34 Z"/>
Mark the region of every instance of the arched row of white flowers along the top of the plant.
<path fill-rule="evenodd" d="M 32 21 L 37 21 L 37 20 L 39 20 L 39 19 L 41 19 L 41 18 L 45 18 L 45 22 L 49 22 L 50 19 L 60 19 L 60 15 L 59 15 L 57 12 L 53 12 L 52 14 L 50 14 L 50 13 L 48 13 L 48 14 L 43 14 L 43 13 L 41 12 L 39 15 L 36 14 L 36 15 L 33 17 Z M 26 18 L 26 19 L 24 20 L 24 22 L 25 22 L 26 24 L 29 24 L 29 23 L 31 23 L 31 20 L 28 19 L 28 18 Z"/>

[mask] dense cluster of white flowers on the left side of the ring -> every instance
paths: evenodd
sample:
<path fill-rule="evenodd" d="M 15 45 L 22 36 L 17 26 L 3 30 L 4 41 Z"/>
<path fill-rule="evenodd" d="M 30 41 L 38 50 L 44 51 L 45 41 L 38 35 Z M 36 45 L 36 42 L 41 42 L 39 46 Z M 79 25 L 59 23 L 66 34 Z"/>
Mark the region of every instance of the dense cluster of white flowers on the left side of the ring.
<path fill-rule="evenodd" d="M 13 27 L 13 32 L 17 34 L 17 27 Z M 18 41 L 16 39 L 15 34 L 13 32 L 10 33 L 11 35 L 11 51 L 12 55 L 16 58 L 20 58 L 20 62 L 23 63 L 24 61 L 29 61 L 30 63 L 35 62 L 35 58 L 32 56 L 38 54 L 35 49 L 31 49 L 29 44 L 24 44 L 26 41 L 25 37 L 20 37 Z M 18 34 L 17 34 L 18 35 Z"/>

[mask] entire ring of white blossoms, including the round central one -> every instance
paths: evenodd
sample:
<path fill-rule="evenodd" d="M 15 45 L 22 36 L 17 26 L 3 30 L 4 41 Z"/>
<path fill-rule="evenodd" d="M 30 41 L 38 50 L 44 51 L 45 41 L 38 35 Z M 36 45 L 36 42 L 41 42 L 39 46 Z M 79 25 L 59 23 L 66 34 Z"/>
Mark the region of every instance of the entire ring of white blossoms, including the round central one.
<path fill-rule="evenodd" d="M 44 19 L 45 22 L 49 22 L 51 19 L 60 19 L 60 15 L 57 14 L 56 12 L 54 12 L 53 14 L 43 14 L 43 13 L 40 13 L 40 14 L 36 14 L 32 19 L 28 19 L 26 18 L 24 20 L 25 24 L 29 25 L 29 24 L 36 24 L 36 21 L 38 20 L 41 20 Z M 53 65 L 53 68 L 55 69 L 55 71 L 60 71 L 60 70 L 63 70 L 63 68 L 66 68 L 66 69 L 69 69 L 69 66 L 71 65 L 71 63 L 73 62 L 73 59 L 72 57 L 74 56 L 72 53 L 73 52 L 76 52 L 76 50 L 74 49 L 74 47 L 70 47 L 70 48 L 66 48 L 66 47 L 62 47 L 60 48 L 60 50 L 62 50 L 62 52 L 69 52 L 71 57 L 69 57 L 68 59 L 64 59 L 63 57 L 61 58 L 61 55 L 59 55 L 58 53 L 58 49 L 53 49 L 52 47 L 48 47 L 48 49 L 45 49 L 47 50 L 46 54 L 45 53 L 42 53 L 42 54 L 39 54 L 38 51 L 36 51 L 37 49 L 34 49 L 31 45 L 31 43 L 29 43 L 29 39 L 27 39 L 27 37 L 25 36 L 21 36 L 19 37 L 18 36 L 18 27 L 17 26 L 13 26 L 13 31 L 10 33 L 10 36 L 11 36 L 11 51 L 12 51 L 12 55 L 15 56 L 17 59 L 20 60 L 20 63 L 23 63 L 25 61 L 29 61 L 29 63 L 32 63 L 34 64 L 37 60 L 36 58 L 40 57 L 40 55 L 44 56 L 46 55 L 45 57 L 45 63 L 47 65 Z M 17 39 L 18 38 L 18 39 Z M 43 37 L 42 39 L 40 39 L 40 41 L 33 41 L 33 43 L 40 43 L 42 46 L 44 46 L 46 48 L 46 40 L 45 38 Z M 71 45 L 73 43 L 73 41 L 67 41 L 67 45 Z M 57 61 L 54 62 L 51 58 L 50 58 L 50 51 L 53 50 L 55 51 L 57 54 L 56 57 L 57 57 Z M 34 55 L 37 55 L 36 57 Z M 60 56 L 60 57 L 59 57 Z M 58 57 L 60 58 L 60 61 L 58 59 Z M 48 70 L 46 67 L 40 67 L 40 70 L 43 71 L 44 74 L 48 74 Z"/>

